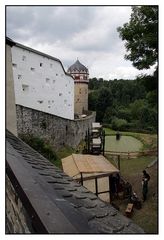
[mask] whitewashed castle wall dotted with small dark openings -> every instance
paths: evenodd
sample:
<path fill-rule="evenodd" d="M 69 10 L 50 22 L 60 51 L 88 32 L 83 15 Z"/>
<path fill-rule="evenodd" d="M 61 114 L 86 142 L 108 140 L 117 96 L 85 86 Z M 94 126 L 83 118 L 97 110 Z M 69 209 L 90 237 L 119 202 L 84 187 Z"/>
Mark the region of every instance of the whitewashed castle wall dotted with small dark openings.
<path fill-rule="evenodd" d="M 74 80 L 58 59 L 17 44 L 12 64 L 16 104 L 74 119 Z"/>

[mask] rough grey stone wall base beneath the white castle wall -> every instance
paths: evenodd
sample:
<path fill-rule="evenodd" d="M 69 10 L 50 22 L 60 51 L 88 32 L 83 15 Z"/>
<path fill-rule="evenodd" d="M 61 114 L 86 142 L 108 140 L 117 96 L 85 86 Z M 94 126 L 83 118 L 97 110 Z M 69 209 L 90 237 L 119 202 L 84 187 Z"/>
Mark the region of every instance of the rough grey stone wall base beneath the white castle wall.
<path fill-rule="evenodd" d="M 76 147 L 95 121 L 95 113 L 83 119 L 69 120 L 48 113 L 16 106 L 18 135 L 33 134 L 50 141 L 57 149 Z"/>

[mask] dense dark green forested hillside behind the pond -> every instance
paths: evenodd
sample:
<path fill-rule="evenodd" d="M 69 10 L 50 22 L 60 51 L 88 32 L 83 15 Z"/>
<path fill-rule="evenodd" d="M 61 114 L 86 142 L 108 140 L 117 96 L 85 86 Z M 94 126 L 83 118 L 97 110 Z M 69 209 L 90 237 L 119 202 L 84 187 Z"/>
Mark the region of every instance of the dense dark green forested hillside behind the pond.
<path fill-rule="evenodd" d="M 89 110 L 114 130 L 157 132 L 157 71 L 136 80 L 90 79 Z"/>

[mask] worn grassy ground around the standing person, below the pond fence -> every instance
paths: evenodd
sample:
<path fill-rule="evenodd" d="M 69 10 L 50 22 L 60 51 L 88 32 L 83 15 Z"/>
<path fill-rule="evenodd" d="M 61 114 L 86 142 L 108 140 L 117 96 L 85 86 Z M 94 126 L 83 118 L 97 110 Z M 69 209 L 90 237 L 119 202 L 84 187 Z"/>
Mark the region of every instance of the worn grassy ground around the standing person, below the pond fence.
<path fill-rule="evenodd" d="M 112 159 L 109 155 L 106 155 L 106 157 L 117 167 L 117 160 Z M 142 171 L 146 169 L 150 174 L 148 199 L 142 203 L 140 210 L 134 209 L 132 220 L 142 227 L 145 233 L 155 234 L 158 232 L 158 201 L 154 198 L 154 194 L 158 195 L 158 169 L 155 166 L 147 168 L 154 159 L 156 159 L 156 156 L 121 159 L 120 173 L 126 181 L 132 184 L 133 191 L 137 193 L 140 199 L 142 199 Z M 120 211 L 125 214 L 128 200 L 116 200 L 115 204 L 119 206 Z"/>

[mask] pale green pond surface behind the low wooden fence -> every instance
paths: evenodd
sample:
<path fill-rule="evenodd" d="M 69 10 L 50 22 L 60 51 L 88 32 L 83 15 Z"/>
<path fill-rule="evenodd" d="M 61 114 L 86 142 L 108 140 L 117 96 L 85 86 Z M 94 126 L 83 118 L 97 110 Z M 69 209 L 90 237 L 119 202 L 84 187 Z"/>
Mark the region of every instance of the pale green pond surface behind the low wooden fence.
<path fill-rule="evenodd" d="M 142 147 L 142 142 L 131 136 L 121 136 L 120 140 L 116 140 L 115 136 L 105 137 L 105 151 L 137 152 Z"/>

